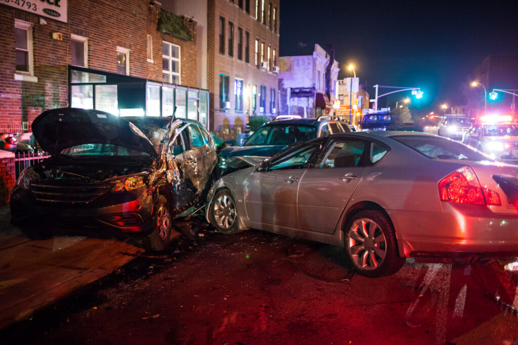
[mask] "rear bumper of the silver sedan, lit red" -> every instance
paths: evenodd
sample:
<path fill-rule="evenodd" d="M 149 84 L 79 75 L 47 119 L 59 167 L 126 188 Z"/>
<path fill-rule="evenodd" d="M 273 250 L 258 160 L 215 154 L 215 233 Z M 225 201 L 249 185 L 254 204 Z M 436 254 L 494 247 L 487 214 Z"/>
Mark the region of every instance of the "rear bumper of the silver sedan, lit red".
<path fill-rule="evenodd" d="M 388 211 L 407 257 L 518 256 L 518 215 L 443 202 L 443 212 Z"/>

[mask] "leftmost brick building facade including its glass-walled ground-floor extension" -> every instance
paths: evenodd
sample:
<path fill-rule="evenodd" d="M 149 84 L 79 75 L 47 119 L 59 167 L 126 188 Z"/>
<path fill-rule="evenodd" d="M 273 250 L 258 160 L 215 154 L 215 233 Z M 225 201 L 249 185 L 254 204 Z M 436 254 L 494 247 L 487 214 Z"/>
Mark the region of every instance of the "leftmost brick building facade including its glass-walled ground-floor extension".
<path fill-rule="evenodd" d="M 0 4 L 0 133 L 31 131 L 41 112 L 68 106 L 121 116 L 176 107 L 178 117 L 208 124 L 195 21 L 148 0 L 49 3 Z"/>

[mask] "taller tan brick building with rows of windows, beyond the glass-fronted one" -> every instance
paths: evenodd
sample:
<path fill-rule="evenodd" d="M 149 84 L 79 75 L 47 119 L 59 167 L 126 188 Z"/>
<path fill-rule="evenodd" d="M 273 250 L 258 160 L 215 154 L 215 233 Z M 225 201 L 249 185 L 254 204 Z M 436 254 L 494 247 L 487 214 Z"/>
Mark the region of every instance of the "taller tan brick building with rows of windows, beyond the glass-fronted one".
<path fill-rule="evenodd" d="M 234 138 L 250 116 L 278 108 L 280 0 L 208 0 L 211 130 Z"/>

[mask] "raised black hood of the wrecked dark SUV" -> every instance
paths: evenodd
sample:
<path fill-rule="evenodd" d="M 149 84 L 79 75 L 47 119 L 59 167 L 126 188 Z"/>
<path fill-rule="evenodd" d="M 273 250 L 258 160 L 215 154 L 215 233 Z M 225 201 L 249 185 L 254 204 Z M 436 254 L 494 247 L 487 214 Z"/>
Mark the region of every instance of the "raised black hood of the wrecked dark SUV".
<path fill-rule="evenodd" d="M 134 124 L 100 110 L 47 110 L 36 117 L 32 130 L 50 154 L 81 144 L 112 144 L 157 156 L 153 144 Z"/>

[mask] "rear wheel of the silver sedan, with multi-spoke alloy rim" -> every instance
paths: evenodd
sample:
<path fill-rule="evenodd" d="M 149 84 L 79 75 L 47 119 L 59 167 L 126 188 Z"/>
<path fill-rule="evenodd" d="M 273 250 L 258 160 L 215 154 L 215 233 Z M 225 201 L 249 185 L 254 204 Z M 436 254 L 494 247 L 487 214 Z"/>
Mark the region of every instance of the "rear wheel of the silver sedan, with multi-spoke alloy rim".
<path fill-rule="evenodd" d="M 346 253 L 355 271 L 368 278 L 389 276 L 405 264 L 399 256 L 394 228 L 377 210 L 354 215 L 344 233 Z"/>

